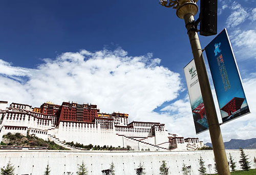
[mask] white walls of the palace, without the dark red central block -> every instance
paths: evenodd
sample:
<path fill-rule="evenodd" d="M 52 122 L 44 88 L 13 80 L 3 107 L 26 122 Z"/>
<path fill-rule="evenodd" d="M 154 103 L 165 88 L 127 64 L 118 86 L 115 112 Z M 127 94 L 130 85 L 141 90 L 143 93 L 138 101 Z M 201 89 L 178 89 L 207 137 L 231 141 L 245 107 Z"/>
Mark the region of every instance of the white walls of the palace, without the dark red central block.
<path fill-rule="evenodd" d="M 4 104 L 4 103 L 3 103 Z M 5 103 L 6 104 L 6 103 Z M 4 108 L 4 105 L 2 105 Z M 133 121 L 128 124 L 128 115 L 98 115 L 94 122 L 62 121 L 56 125 L 56 117 L 44 113 L 33 112 L 29 105 L 12 103 L 9 108 L 0 111 L 0 141 L 7 133 L 30 134 L 47 140 L 56 138 L 58 142 L 78 142 L 83 145 L 108 145 L 126 147 L 135 150 L 150 149 L 151 151 L 168 151 L 170 135 L 164 124 L 157 122 Z M 195 150 L 202 143 L 190 144 L 177 142 L 172 146 L 177 151 Z M 191 140 L 191 139 L 190 139 Z M 198 140 L 198 139 L 197 139 Z"/>

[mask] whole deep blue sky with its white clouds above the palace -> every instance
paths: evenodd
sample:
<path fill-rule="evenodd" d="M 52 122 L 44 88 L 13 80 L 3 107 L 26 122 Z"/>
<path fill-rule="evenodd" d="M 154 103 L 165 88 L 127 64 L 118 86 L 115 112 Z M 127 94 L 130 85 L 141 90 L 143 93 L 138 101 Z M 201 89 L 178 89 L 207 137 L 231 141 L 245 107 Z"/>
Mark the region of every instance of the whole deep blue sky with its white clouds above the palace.
<path fill-rule="evenodd" d="M 219 1 L 218 14 L 252 112 L 223 125 L 223 138 L 256 137 L 255 1 Z M 1 1 L 0 21 L 1 100 L 89 102 L 196 136 L 183 73 L 191 48 L 174 9 L 158 1 Z M 214 37 L 200 36 L 202 47 Z M 208 132 L 196 137 L 209 141 Z"/>

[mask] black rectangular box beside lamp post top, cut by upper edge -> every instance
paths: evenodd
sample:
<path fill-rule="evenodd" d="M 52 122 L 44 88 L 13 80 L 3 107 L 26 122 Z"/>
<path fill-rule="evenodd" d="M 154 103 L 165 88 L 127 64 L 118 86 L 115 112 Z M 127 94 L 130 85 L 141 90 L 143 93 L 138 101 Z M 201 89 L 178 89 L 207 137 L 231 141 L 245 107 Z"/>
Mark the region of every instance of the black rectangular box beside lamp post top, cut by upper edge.
<path fill-rule="evenodd" d="M 217 34 L 217 6 L 218 0 L 200 1 L 200 35 L 210 36 Z"/>

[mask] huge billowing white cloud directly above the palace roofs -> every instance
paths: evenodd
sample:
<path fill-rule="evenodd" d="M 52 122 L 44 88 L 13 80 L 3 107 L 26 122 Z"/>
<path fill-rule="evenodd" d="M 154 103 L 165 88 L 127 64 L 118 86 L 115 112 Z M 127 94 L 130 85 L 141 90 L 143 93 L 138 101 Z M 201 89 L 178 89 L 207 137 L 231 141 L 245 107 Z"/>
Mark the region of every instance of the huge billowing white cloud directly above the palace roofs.
<path fill-rule="evenodd" d="M 182 90 L 178 73 L 160 66 L 159 58 L 130 57 L 121 48 L 95 53 L 82 50 L 45 59 L 35 69 L 0 60 L 1 100 L 40 106 L 46 101 L 97 104 L 101 112 L 130 114 L 130 121 L 161 121 L 170 115 L 152 112 Z M 20 83 L 10 76 L 27 81 Z"/>

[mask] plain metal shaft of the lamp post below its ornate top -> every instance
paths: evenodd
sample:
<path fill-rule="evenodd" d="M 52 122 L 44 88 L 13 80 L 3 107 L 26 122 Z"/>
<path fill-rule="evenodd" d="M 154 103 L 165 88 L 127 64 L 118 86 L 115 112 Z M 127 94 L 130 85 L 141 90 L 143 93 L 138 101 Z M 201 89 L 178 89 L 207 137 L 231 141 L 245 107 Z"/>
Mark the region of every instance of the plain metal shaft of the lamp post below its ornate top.
<path fill-rule="evenodd" d="M 212 98 L 211 89 L 209 80 L 207 77 L 207 72 L 204 64 L 204 58 L 202 54 L 202 49 L 200 45 L 200 41 L 198 38 L 198 34 L 195 30 L 190 30 L 194 28 L 194 16 L 193 14 L 184 15 L 184 20 L 187 28 L 187 34 L 189 37 L 190 45 L 192 48 L 198 80 L 200 83 L 200 88 L 202 92 L 203 102 L 205 113 L 207 116 L 209 132 L 212 147 L 214 149 L 214 156 L 217 164 L 218 174 L 219 175 L 230 175 L 227 156 L 225 152 L 225 147 L 221 135 L 220 125 L 214 105 L 214 99 Z"/>

